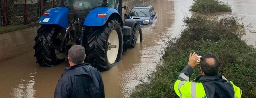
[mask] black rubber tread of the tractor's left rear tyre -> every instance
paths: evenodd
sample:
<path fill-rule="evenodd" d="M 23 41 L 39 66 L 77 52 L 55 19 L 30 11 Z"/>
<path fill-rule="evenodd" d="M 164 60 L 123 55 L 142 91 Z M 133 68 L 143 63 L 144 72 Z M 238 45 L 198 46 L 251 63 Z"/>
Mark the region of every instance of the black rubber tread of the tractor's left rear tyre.
<path fill-rule="evenodd" d="M 55 50 L 50 48 L 49 44 L 54 41 L 60 27 L 54 25 L 42 25 L 37 30 L 35 37 L 35 57 L 40 66 L 52 67 L 59 63 L 59 59 L 55 55 Z"/>

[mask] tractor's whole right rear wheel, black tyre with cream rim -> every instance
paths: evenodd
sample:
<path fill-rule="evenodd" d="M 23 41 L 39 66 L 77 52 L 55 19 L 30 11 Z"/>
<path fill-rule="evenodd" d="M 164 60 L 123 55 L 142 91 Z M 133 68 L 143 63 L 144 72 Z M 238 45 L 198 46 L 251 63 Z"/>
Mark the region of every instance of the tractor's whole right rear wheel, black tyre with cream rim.
<path fill-rule="evenodd" d="M 85 62 L 106 71 L 122 58 L 122 30 L 117 20 L 102 27 L 85 28 Z"/>

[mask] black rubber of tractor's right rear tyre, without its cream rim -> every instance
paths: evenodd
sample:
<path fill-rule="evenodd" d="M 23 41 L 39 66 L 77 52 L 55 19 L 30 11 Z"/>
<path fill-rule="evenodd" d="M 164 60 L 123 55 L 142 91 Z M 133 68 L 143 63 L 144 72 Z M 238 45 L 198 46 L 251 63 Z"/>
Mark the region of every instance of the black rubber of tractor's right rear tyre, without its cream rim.
<path fill-rule="evenodd" d="M 109 64 L 107 60 L 108 36 L 112 30 L 116 30 L 119 37 L 119 51 L 117 54 L 117 63 L 122 57 L 122 29 L 117 20 L 111 20 L 102 27 L 86 27 L 85 29 L 85 62 L 93 65 L 100 71 L 110 69 L 115 63 Z"/>

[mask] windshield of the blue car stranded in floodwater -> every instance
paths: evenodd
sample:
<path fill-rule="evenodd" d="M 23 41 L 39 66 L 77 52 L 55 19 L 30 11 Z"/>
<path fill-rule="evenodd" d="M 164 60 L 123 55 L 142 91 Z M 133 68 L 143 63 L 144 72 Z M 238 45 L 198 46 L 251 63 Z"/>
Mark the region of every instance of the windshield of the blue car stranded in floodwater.
<path fill-rule="evenodd" d="M 132 9 L 130 16 L 150 16 L 149 9 Z"/>

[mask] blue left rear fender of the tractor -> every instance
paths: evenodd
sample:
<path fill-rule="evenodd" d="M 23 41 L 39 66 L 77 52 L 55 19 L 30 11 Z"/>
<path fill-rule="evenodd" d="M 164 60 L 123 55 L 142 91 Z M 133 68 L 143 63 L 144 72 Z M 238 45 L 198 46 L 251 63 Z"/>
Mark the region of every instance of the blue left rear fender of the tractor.
<path fill-rule="evenodd" d="M 45 13 L 49 13 L 49 16 L 41 16 L 39 19 L 39 24 L 57 24 L 63 28 L 68 26 L 68 15 L 69 9 L 67 7 L 55 7 L 48 9 Z"/>

